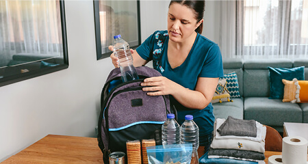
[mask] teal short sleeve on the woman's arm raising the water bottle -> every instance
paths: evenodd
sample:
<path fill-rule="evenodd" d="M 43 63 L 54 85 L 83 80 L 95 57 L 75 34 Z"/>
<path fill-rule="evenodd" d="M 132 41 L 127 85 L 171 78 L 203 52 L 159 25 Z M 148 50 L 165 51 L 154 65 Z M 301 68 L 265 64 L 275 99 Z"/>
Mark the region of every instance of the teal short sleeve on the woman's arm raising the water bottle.
<path fill-rule="evenodd" d="M 157 31 L 155 31 L 151 36 L 149 36 L 149 38 L 146 38 L 146 40 L 144 40 L 144 42 L 136 49 L 140 57 L 147 61 L 152 60 L 153 57 L 153 44 L 155 41 L 155 33 L 157 33 Z"/>

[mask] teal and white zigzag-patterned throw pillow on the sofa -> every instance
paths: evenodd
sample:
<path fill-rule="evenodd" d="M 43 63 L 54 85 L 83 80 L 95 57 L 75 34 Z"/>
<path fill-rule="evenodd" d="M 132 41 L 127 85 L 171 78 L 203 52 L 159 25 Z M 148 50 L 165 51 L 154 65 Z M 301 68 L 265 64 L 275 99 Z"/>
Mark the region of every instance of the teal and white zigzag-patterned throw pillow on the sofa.
<path fill-rule="evenodd" d="M 227 80 L 227 88 L 230 93 L 231 98 L 240 98 L 240 90 L 238 87 L 238 76 L 235 72 L 231 72 L 229 74 L 224 74 L 223 79 Z M 220 78 L 220 79 L 222 79 Z"/>

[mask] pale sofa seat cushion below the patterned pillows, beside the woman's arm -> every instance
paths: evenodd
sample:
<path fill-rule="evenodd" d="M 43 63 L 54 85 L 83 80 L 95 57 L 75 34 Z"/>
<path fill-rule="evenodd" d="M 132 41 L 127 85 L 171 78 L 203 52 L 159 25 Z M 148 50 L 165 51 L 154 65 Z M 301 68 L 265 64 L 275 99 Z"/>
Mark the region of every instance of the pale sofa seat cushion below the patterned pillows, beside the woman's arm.
<path fill-rule="evenodd" d="M 228 116 L 243 119 L 243 98 L 233 98 L 233 102 L 213 104 L 215 118 L 227 119 Z"/>

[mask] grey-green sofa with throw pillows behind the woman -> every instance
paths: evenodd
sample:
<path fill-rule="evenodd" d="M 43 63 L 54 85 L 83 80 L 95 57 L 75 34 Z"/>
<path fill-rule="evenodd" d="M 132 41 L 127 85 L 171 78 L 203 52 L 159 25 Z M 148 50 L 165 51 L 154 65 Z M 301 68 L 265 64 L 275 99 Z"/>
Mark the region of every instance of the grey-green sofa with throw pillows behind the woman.
<path fill-rule="evenodd" d="M 308 123 L 308 103 L 282 102 L 269 99 L 270 77 L 268 66 L 293 68 L 305 66 L 305 80 L 308 80 L 308 59 L 224 59 L 224 74 L 235 72 L 238 76 L 241 98 L 233 102 L 214 103 L 216 118 L 256 120 L 283 132 L 283 122 Z"/>

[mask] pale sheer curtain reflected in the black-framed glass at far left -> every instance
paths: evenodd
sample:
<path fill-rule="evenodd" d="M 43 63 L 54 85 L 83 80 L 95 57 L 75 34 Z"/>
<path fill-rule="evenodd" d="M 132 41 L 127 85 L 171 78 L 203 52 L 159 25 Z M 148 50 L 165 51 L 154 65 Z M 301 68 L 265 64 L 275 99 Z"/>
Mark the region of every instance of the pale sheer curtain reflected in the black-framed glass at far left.
<path fill-rule="evenodd" d="M 0 1 L 0 68 L 16 54 L 59 56 L 60 38 L 59 1 Z"/>

